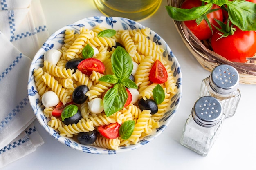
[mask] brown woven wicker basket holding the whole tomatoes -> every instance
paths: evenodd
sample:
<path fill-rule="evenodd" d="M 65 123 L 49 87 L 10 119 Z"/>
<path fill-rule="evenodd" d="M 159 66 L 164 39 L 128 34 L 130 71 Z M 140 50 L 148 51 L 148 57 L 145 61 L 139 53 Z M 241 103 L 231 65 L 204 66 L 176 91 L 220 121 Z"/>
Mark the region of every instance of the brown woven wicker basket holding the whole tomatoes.
<path fill-rule="evenodd" d="M 184 0 L 167 0 L 169 6 L 180 7 Z M 229 64 L 237 69 L 240 75 L 240 83 L 256 84 L 256 55 L 248 58 L 247 63 L 231 62 L 211 50 L 209 41 L 200 41 L 187 29 L 184 22 L 173 20 L 177 31 L 189 51 L 198 60 L 202 67 L 208 71 L 219 64 Z"/>

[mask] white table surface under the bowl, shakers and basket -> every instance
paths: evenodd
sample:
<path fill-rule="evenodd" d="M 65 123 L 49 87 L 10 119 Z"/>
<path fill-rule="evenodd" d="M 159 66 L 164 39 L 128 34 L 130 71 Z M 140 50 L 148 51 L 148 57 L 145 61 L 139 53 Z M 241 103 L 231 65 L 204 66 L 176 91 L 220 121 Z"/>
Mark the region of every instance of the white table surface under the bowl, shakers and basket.
<path fill-rule="evenodd" d="M 102 15 L 93 0 L 41 0 L 50 34 L 77 20 Z M 73 150 L 51 137 L 38 123 L 34 124 L 45 144 L 35 152 L 15 161 L 2 170 L 216 170 L 256 169 L 256 85 L 240 84 L 241 100 L 234 117 L 226 119 L 222 131 L 207 157 L 180 144 L 184 123 L 198 97 L 202 79 L 209 76 L 186 49 L 168 16 L 163 0 L 159 10 L 140 21 L 167 42 L 182 70 L 180 107 L 159 137 L 145 146 L 116 155 L 94 155 Z"/>

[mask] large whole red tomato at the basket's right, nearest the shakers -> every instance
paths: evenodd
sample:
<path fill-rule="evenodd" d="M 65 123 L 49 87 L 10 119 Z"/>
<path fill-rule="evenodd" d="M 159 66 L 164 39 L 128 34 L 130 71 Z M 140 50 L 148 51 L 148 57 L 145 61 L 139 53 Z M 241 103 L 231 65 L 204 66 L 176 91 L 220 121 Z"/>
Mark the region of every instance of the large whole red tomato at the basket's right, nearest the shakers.
<path fill-rule="evenodd" d="M 220 38 L 216 31 L 211 38 L 213 51 L 222 55 L 232 62 L 247 62 L 247 57 L 252 57 L 256 53 L 256 32 L 242 31 L 234 26 L 234 35 Z M 217 40 L 220 38 L 219 40 Z"/>

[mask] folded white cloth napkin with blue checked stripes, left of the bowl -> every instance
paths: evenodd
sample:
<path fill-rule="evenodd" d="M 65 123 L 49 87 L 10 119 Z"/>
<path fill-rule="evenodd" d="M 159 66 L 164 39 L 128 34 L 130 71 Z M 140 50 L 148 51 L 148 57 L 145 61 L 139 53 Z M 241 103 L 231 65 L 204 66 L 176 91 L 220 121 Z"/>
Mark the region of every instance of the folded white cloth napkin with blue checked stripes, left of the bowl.
<path fill-rule="evenodd" d="M 0 168 L 44 143 L 27 95 L 31 60 L 49 37 L 40 0 L 0 0 Z"/>

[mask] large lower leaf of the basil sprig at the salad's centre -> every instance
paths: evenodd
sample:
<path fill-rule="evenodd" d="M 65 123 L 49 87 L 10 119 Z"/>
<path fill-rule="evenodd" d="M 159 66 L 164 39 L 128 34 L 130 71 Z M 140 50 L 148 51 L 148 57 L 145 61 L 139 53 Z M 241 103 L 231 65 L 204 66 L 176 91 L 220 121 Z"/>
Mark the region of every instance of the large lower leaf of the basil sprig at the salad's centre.
<path fill-rule="evenodd" d="M 126 103 L 128 94 L 126 88 L 122 84 L 115 84 L 113 88 L 110 88 L 104 95 L 104 112 L 108 117 L 117 111 L 121 110 Z"/>

